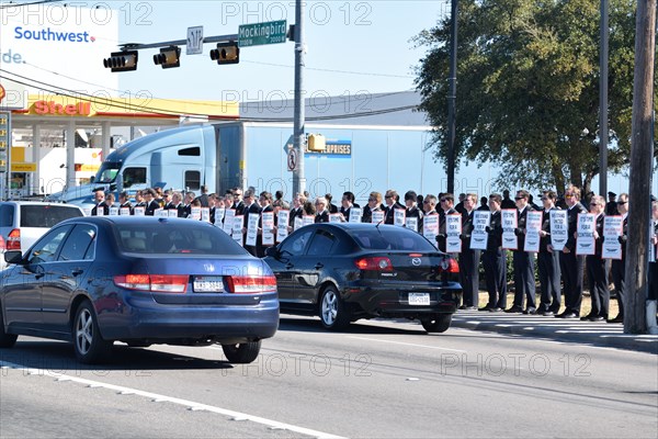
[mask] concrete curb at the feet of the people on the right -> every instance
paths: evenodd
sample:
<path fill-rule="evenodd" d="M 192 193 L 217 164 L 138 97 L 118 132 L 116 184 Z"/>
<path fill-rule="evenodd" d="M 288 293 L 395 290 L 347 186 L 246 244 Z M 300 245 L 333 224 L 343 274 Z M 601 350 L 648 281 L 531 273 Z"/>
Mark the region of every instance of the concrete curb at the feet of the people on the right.
<path fill-rule="evenodd" d="M 451 327 L 591 345 L 658 354 L 658 336 L 624 334 L 622 324 L 537 315 L 457 311 Z"/>

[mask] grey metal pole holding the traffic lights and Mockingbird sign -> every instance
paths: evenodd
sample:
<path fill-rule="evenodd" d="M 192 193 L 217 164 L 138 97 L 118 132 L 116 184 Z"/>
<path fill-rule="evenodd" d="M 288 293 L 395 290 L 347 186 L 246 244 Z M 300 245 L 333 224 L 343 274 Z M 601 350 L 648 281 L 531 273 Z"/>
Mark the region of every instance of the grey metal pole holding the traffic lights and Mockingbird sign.
<path fill-rule="evenodd" d="M 306 190 L 304 176 L 304 0 L 295 0 L 295 115 L 293 122 L 293 148 L 297 151 L 297 165 L 293 170 L 293 196 Z"/>

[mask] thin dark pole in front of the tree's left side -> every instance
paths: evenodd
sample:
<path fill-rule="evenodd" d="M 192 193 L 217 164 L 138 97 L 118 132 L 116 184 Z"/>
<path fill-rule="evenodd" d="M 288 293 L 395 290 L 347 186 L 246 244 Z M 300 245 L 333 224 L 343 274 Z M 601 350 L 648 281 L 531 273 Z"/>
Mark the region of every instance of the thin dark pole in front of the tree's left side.
<path fill-rule="evenodd" d="M 455 193 L 455 131 L 457 103 L 457 11 L 458 0 L 452 0 L 450 27 L 450 71 L 447 91 L 447 192 Z"/>

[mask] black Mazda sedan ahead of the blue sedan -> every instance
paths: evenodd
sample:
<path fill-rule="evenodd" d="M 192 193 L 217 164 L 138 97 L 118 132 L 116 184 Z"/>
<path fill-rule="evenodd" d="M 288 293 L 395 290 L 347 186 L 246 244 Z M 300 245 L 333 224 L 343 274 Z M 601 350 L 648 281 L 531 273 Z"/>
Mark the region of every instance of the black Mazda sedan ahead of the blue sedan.
<path fill-rule="evenodd" d="M 318 223 L 266 251 L 282 313 L 319 315 L 327 329 L 360 318 L 419 319 L 443 333 L 462 295 L 458 266 L 404 227 Z"/>

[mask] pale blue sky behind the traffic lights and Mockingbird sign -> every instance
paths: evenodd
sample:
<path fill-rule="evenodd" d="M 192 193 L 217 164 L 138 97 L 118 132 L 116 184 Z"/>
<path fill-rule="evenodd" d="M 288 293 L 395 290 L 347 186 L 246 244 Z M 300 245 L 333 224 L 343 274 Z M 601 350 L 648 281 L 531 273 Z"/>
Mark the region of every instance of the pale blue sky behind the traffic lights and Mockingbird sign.
<path fill-rule="evenodd" d="M 238 32 L 240 24 L 287 19 L 295 22 L 294 0 L 152 1 L 111 3 L 118 12 L 117 43 L 184 40 L 190 26 L 204 35 Z M 413 88 L 413 66 L 426 48 L 411 38 L 450 12 L 450 1 L 309 1 L 305 11 L 307 43 L 305 90 L 308 97 L 355 95 Z M 203 55 L 184 54 L 181 67 L 161 69 L 157 49 L 141 50 L 137 71 L 120 74 L 120 88 L 154 98 L 239 101 L 293 97 L 294 44 L 245 47 L 240 64 L 218 66 L 205 44 Z M 101 57 L 109 54 L 99 54 Z"/>

